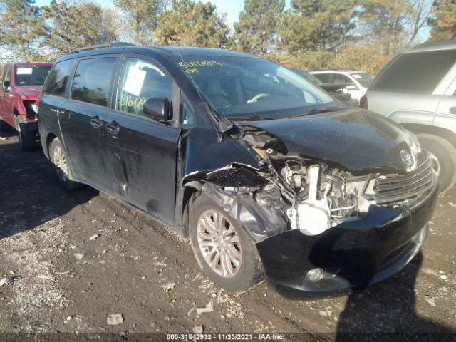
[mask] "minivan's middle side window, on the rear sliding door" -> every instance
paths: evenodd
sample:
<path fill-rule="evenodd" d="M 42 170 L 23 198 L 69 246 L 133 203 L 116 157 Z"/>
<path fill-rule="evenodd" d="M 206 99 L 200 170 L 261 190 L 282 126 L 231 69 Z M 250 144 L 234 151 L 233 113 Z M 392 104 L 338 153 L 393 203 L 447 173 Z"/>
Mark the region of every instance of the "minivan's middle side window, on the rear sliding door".
<path fill-rule="evenodd" d="M 105 57 L 79 61 L 73 78 L 71 98 L 106 107 L 115 60 L 115 57 Z"/>

